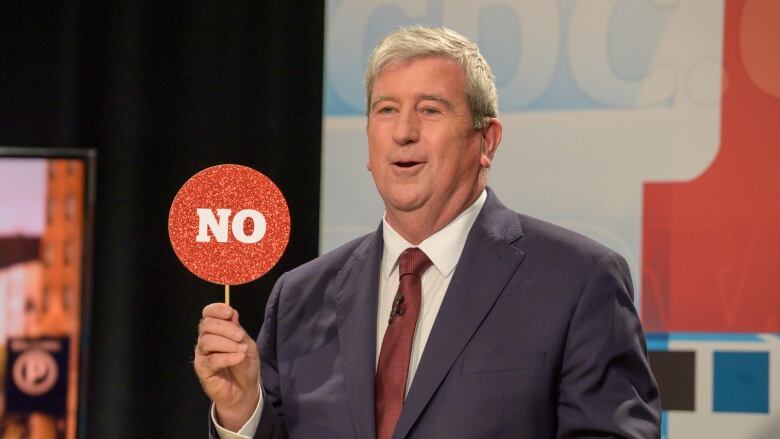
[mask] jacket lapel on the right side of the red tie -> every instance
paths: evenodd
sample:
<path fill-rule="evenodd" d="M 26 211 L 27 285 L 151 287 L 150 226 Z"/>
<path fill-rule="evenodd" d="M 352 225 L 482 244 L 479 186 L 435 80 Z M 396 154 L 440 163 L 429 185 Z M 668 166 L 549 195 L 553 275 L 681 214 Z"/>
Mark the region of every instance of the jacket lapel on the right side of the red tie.
<path fill-rule="evenodd" d="M 408 434 L 517 270 L 524 253 L 512 242 L 521 236 L 517 214 L 488 190 L 431 329 L 394 438 Z"/>

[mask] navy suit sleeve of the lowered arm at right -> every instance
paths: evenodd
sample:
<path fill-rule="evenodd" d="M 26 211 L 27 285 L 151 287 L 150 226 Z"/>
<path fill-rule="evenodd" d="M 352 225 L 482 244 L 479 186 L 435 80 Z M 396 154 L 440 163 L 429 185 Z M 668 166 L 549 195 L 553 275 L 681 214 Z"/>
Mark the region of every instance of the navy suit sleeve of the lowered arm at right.
<path fill-rule="evenodd" d="M 660 437 L 660 399 L 625 260 L 609 253 L 585 282 L 566 339 L 558 437 Z"/>

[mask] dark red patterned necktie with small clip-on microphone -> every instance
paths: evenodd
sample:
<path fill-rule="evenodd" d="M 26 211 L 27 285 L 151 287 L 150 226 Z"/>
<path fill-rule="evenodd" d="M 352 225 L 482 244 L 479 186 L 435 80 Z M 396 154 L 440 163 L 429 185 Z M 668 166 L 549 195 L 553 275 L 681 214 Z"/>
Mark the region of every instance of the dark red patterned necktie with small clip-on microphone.
<path fill-rule="evenodd" d="M 408 248 L 401 253 L 398 293 L 393 300 L 376 368 L 377 439 L 390 439 L 401 416 L 414 328 L 422 301 L 420 277 L 430 266 L 431 260 L 419 248 Z"/>

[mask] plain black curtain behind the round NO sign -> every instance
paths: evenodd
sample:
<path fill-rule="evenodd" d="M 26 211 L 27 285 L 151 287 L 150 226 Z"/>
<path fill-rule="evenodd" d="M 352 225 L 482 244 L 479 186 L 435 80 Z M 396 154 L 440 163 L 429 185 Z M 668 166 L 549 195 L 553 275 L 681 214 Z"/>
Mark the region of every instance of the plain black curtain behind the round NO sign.
<path fill-rule="evenodd" d="M 232 289 L 253 336 L 276 278 L 317 254 L 324 6 L 295 3 L 0 4 L 0 145 L 98 151 L 89 437 L 206 434 L 192 352 L 222 288 L 167 235 L 190 176 L 244 164 L 289 202 L 280 263 Z"/>

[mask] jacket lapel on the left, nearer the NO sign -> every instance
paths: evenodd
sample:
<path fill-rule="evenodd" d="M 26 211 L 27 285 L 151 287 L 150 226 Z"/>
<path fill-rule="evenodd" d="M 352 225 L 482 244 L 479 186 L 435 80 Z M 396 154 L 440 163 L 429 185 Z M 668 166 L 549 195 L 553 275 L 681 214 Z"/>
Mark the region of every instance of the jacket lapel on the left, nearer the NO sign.
<path fill-rule="evenodd" d="M 374 375 L 382 245 L 380 226 L 355 250 L 332 287 L 339 343 L 344 358 L 344 384 L 352 424 L 358 438 L 376 437 Z"/>

